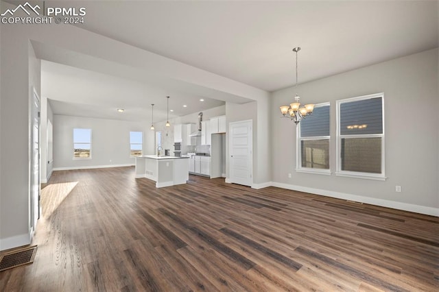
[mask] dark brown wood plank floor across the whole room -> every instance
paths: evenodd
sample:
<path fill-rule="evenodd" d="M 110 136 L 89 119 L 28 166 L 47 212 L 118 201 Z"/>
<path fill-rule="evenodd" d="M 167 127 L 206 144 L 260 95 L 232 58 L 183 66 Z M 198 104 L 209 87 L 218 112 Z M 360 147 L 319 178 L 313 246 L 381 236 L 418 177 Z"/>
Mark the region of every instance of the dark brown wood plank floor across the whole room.
<path fill-rule="evenodd" d="M 439 291 L 439 218 L 134 168 L 56 171 L 0 291 Z M 416 195 L 416 194 L 414 194 Z"/>

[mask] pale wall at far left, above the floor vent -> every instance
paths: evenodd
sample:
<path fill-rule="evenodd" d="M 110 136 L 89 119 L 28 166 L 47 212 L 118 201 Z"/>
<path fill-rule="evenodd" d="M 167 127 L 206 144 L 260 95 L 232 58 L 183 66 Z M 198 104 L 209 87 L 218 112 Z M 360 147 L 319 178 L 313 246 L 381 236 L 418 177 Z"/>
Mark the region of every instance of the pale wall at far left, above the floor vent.
<path fill-rule="evenodd" d="M 29 105 L 33 88 L 40 95 L 40 62 L 12 26 L 1 25 L 1 43 L 0 250 L 5 250 L 30 243 Z"/>

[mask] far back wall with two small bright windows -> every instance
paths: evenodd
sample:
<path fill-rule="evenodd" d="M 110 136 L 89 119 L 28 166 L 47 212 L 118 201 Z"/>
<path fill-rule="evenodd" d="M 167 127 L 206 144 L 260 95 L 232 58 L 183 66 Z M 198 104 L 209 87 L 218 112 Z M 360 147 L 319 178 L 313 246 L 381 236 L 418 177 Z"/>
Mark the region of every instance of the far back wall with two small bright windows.
<path fill-rule="evenodd" d="M 73 128 L 92 130 L 92 158 L 73 159 Z M 130 132 L 143 132 L 143 154 L 154 154 L 154 132 L 146 122 L 54 115 L 54 169 L 134 165 Z M 151 143 L 151 141 L 153 141 Z"/>

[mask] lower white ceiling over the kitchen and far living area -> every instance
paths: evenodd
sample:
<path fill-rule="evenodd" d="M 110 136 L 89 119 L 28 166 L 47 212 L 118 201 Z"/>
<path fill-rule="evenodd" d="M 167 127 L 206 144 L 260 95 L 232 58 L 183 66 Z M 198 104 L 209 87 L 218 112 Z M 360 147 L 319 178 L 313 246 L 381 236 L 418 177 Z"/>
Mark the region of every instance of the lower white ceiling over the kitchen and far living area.
<path fill-rule="evenodd" d="M 224 104 L 216 99 L 46 60 L 41 61 L 41 85 L 54 113 L 80 117 L 151 121 L 154 104 L 154 121 L 163 121 L 167 119 L 167 96 L 169 119 Z M 118 108 L 125 111 L 119 113 Z"/>

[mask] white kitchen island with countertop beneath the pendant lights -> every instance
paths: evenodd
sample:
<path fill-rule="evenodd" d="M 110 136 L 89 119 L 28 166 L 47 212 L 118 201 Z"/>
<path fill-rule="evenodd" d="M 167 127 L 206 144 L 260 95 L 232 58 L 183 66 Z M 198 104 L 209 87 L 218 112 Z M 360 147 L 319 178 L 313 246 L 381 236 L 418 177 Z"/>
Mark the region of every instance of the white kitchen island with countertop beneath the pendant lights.
<path fill-rule="evenodd" d="M 189 180 L 189 158 L 176 156 L 136 156 L 136 178 L 156 182 L 156 188 L 186 184 Z"/>

